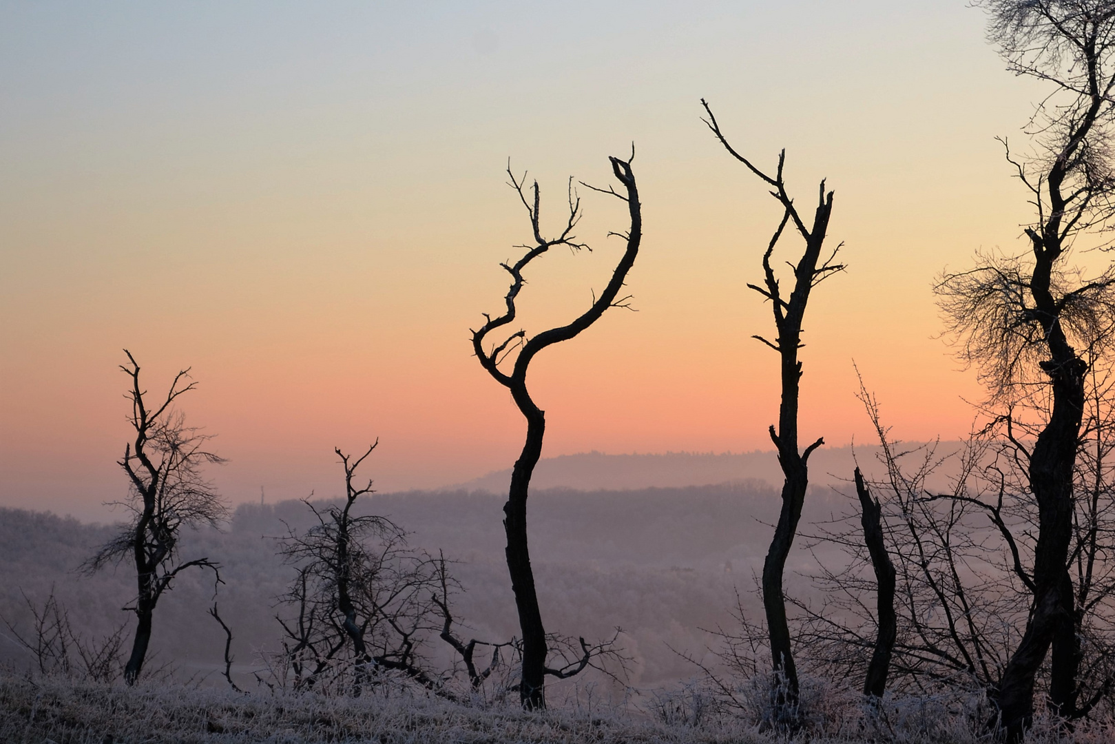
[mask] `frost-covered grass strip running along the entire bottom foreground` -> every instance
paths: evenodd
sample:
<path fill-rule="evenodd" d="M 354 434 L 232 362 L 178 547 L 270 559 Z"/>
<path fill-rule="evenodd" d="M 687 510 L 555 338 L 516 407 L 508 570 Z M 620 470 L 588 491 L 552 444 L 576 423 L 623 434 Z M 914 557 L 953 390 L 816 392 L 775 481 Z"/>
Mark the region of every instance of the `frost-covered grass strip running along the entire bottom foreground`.
<path fill-rule="evenodd" d="M 658 698 L 685 713 L 695 703 Z M 697 700 L 699 705 L 699 700 Z M 681 707 L 678 707 L 681 706 Z M 814 706 L 806 728 L 796 736 L 760 733 L 754 716 L 707 709 L 692 715 L 650 715 L 656 705 L 591 709 L 569 703 L 544 713 L 514 705 L 462 705 L 392 688 L 361 698 L 313 694 L 239 695 L 227 689 L 147 683 L 119 684 L 37 679 L 0 674 L 0 742 L 4 744 L 138 744 L 140 742 L 453 742 L 511 744 L 791 744 L 792 742 L 903 744 L 977 744 L 973 709 L 956 709 L 937 700 L 890 703 L 884 719 L 873 721 L 852 695 L 836 695 Z M 690 709 L 691 713 L 691 709 Z M 807 716 L 808 717 L 808 716 Z M 1113 741 L 1109 722 L 1088 723 L 1074 735 L 1039 721 L 1035 744 Z"/>

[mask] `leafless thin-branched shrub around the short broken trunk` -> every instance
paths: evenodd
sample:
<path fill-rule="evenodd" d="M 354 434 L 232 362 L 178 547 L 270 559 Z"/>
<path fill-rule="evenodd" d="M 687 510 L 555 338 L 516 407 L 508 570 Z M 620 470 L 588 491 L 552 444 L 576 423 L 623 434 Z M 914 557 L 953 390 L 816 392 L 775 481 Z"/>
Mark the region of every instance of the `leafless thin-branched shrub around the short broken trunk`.
<path fill-rule="evenodd" d="M 822 607 L 797 603 L 805 655 L 833 676 L 865 674 L 870 683 L 878 668 L 875 651 L 890 637 L 892 687 L 993 690 L 1025 620 L 1025 611 L 1018 610 L 1018 598 L 1026 596 L 1021 573 L 1015 574 L 1016 563 L 997 540 L 1011 534 L 1010 525 L 1018 521 L 1009 511 L 1014 484 L 1006 477 L 980 480 L 980 467 L 999 472 L 983 441 L 972 439 L 944 455 L 935 443 L 905 450 L 883 426 L 875 397 L 861 389 L 861 399 L 879 437 L 884 475 L 872 483 L 856 479 L 860 513 L 822 529 L 820 538 L 844 545 L 851 561 L 818 562 L 815 583 L 823 590 Z M 942 493 L 937 485 L 930 493 L 930 480 L 946 464 L 956 471 L 951 490 Z M 869 487 L 876 496 L 870 521 L 878 524 L 882 545 L 864 539 L 864 532 L 874 530 L 864 514 Z M 880 561 L 880 548 L 886 561 Z M 886 595 L 892 601 L 885 601 Z"/>

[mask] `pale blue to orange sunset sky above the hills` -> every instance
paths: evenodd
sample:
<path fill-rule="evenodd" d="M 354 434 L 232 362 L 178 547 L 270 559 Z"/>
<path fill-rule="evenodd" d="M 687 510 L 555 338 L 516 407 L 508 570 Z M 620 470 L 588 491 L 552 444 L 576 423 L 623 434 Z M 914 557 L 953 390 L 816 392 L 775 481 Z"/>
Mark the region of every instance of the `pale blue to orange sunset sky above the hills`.
<path fill-rule="evenodd" d="M 0 2 L 0 505 L 103 515 L 126 482 L 119 370 L 188 367 L 191 425 L 232 503 L 508 467 L 523 419 L 472 356 L 501 261 L 530 239 L 505 168 L 559 230 L 572 175 L 636 147 L 643 241 L 613 309 L 531 367 L 544 456 L 767 450 L 769 306 L 746 289 L 780 212 L 701 123 L 835 191 L 847 270 L 811 298 L 802 437 L 954 438 L 981 397 L 940 338 L 933 278 L 1021 250 L 1002 147 L 1041 87 L 964 0 Z M 529 332 L 592 301 L 622 204 L 581 189 L 591 253 L 532 264 Z M 812 207 L 811 207 L 812 209 Z M 784 260 L 801 242 L 785 240 Z"/>

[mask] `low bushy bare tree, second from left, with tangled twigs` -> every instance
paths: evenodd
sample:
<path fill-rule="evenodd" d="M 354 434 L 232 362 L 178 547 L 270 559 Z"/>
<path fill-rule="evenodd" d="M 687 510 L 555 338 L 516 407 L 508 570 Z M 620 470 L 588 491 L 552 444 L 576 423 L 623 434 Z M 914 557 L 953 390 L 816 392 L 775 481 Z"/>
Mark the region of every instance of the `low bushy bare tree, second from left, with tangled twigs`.
<path fill-rule="evenodd" d="M 401 673 L 442 694 L 440 679 L 426 668 L 421 648 L 437 628 L 439 588 L 436 562 L 407 547 L 406 533 L 394 522 L 358 515 L 360 496 L 374 493 L 359 485 L 356 471 L 376 444 L 360 457 L 340 450 L 345 468 L 345 503 L 319 510 L 306 505 L 318 523 L 282 539 L 282 555 L 298 574 L 282 603 L 294 617 L 279 617 L 294 686 L 320 686 L 323 675 L 339 688 L 347 680 L 353 696 L 377 682 L 385 670 Z"/>

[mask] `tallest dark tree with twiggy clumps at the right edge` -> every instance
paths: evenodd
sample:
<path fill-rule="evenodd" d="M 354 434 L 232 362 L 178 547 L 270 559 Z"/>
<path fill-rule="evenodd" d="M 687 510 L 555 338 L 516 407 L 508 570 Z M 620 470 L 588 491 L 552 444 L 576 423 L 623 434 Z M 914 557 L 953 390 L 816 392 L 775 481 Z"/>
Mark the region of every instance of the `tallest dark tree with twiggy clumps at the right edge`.
<path fill-rule="evenodd" d="M 1036 211 L 1019 255 L 977 254 L 944 273 L 937 292 L 959 356 L 980 370 L 1036 502 L 1032 602 L 998 689 L 1000 735 L 1020 742 L 1034 717 L 1035 679 L 1050 656 L 1049 707 L 1077 715 L 1080 639 L 1072 576 L 1073 476 L 1080 444 L 1088 359 L 1111 341 L 1115 272 L 1094 278 L 1068 265 L 1075 243 L 1111 248 L 1115 175 L 1109 136 L 1115 88 L 1115 3 L 1109 0 L 982 0 L 988 39 L 1008 69 L 1050 86 L 1026 134 L 1032 147 L 1007 160 Z"/>

